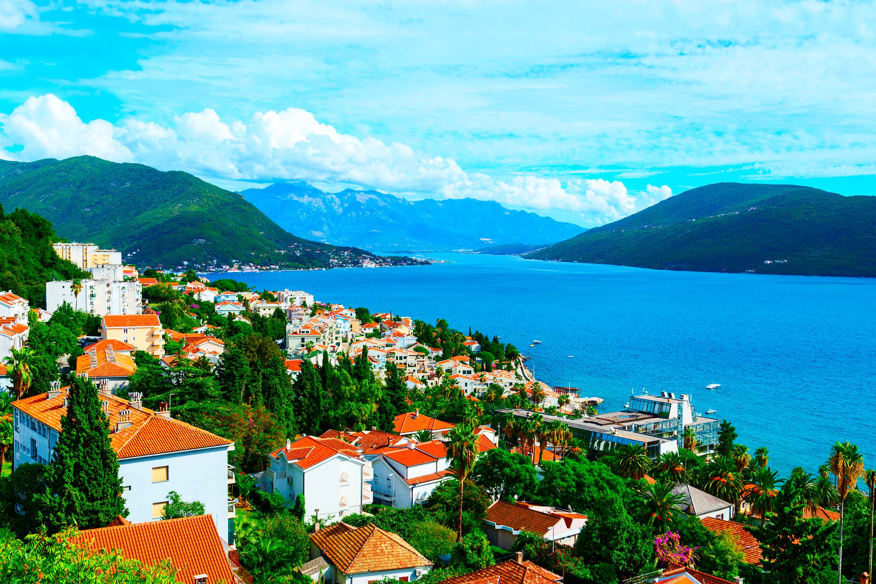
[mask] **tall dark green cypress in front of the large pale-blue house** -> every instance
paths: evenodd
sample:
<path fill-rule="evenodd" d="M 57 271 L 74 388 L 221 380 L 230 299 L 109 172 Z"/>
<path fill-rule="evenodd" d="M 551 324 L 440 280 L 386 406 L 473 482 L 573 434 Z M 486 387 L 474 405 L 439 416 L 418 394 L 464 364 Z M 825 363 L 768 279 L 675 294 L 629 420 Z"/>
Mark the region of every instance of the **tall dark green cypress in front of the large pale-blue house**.
<path fill-rule="evenodd" d="M 90 380 L 74 377 L 60 427 L 52 461 L 46 467 L 46 492 L 39 496 L 39 521 L 53 531 L 74 523 L 80 529 L 93 529 L 128 515 L 118 458 L 109 441 L 109 422 Z"/>

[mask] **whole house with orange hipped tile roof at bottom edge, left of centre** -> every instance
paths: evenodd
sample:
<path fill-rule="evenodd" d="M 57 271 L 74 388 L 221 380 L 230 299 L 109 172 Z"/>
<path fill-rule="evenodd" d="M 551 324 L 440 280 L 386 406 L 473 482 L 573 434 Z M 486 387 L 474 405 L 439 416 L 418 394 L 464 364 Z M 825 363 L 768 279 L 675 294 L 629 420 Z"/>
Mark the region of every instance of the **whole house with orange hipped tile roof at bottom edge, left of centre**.
<path fill-rule="evenodd" d="M 398 534 L 374 524 L 342 522 L 317 529 L 310 534 L 310 558 L 300 572 L 327 584 L 413 582 L 432 569 L 432 562 Z"/>

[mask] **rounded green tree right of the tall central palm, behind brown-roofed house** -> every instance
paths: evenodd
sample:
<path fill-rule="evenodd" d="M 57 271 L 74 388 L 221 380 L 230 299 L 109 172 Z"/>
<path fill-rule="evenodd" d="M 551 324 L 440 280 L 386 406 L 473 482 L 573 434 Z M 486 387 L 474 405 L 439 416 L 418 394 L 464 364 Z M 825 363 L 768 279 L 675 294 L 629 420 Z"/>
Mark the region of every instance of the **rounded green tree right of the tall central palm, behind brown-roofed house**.
<path fill-rule="evenodd" d="M 481 454 L 471 475 L 492 499 L 514 502 L 534 498 L 539 487 L 538 473 L 522 454 L 493 448 Z"/>

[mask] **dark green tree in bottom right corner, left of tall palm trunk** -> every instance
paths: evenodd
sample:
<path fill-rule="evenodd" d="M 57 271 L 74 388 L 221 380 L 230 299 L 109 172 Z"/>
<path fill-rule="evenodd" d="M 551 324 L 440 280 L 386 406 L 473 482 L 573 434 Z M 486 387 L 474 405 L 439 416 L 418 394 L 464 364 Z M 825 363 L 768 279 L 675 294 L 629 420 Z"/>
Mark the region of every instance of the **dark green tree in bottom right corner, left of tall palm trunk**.
<path fill-rule="evenodd" d="M 763 551 L 762 565 L 776 584 L 812 584 L 836 579 L 837 528 L 835 522 L 803 519 L 803 503 L 794 482 L 782 485 L 767 513 L 767 524 L 753 530 Z"/>

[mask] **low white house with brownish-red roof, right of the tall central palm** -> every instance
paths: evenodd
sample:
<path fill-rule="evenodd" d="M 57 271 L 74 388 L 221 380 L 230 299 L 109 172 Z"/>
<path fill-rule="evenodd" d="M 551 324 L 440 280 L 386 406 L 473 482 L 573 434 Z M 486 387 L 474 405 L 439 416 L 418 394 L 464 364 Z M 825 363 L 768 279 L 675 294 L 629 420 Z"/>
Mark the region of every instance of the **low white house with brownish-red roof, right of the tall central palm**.
<path fill-rule="evenodd" d="M 522 531 L 562 545 L 575 545 L 587 516 L 535 503 L 497 501 L 487 509 L 484 532 L 492 545 L 511 550 Z"/>

